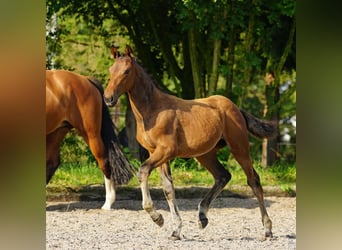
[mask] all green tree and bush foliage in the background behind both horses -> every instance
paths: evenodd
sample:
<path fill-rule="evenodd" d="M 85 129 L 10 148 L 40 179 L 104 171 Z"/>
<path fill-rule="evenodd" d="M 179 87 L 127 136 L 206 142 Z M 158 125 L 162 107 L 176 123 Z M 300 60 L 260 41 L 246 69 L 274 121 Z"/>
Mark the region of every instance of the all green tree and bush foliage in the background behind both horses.
<path fill-rule="evenodd" d="M 277 68 L 295 14 L 295 0 L 48 0 L 46 67 L 93 75 L 105 87 L 108 68 L 113 63 L 110 45 L 114 43 L 122 48 L 129 43 L 139 63 L 156 82 L 180 97 L 193 98 L 191 65 L 195 62 L 190 60 L 188 31 L 195 28 L 204 94 L 208 93 L 208 79 L 215 73 L 212 69 L 214 40 L 220 40 L 219 77 L 213 93 L 226 96 L 229 93 L 229 98 L 239 107 L 262 117 L 264 74 L 266 70 Z M 280 119 L 296 113 L 296 46 L 295 41 L 290 42 L 293 45 L 281 69 L 279 84 L 289 80 L 293 84 L 281 94 L 278 104 L 269 107 L 279 110 Z M 232 81 L 231 91 L 227 89 L 228 78 Z M 125 99 L 120 103 L 124 111 Z M 294 143 L 293 128 L 280 124 L 280 130 L 286 126 L 291 129 Z M 62 152 L 61 159 L 69 162 L 82 159 L 85 164 L 95 164 L 89 149 L 79 142 L 82 140 L 72 136 L 66 138 L 62 151 L 74 152 Z M 260 160 L 261 141 L 251 138 L 251 142 L 253 159 Z M 295 161 L 295 147 L 282 147 L 280 153 L 281 160 Z M 198 169 L 192 160 L 179 159 L 174 165 Z"/>

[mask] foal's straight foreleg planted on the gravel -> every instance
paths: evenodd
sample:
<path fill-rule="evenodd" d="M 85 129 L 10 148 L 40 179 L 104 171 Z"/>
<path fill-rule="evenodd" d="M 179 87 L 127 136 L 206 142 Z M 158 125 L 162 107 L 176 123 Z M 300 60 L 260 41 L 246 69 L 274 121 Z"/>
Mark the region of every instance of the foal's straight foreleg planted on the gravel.
<path fill-rule="evenodd" d="M 180 240 L 180 231 L 182 229 L 182 219 L 179 216 L 178 207 L 176 204 L 175 189 L 173 186 L 170 166 L 168 163 L 164 163 L 161 167 L 157 168 L 163 182 L 164 195 L 170 207 L 172 222 L 174 224 L 174 231 L 170 239 Z"/>

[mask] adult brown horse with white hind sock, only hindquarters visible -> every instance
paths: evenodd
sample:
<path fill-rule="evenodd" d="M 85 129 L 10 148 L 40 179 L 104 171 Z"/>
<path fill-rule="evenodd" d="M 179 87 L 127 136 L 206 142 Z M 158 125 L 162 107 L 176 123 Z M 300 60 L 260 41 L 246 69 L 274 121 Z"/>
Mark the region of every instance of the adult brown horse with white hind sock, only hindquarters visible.
<path fill-rule="evenodd" d="M 118 146 L 103 88 L 94 78 L 65 70 L 46 70 L 46 184 L 59 165 L 59 147 L 75 128 L 88 144 L 105 179 L 106 201 L 111 209 L 115 185 L 127 183 L 133 170 Z"/>

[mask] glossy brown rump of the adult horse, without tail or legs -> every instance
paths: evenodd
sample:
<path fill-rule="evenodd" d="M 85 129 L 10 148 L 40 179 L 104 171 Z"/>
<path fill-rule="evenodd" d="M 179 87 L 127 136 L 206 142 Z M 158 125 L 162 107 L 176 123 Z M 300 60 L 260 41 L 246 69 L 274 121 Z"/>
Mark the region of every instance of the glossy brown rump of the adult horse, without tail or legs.
<path fill-rule="evenodd" d="M 66 121 L 80 131 L 85 130 L 85 126 L 90 126 L 86 121 L 99 121 L 101 100 L 99 89 L 87 77 L 66 70 L 47 70 L 47 132 Z"/>

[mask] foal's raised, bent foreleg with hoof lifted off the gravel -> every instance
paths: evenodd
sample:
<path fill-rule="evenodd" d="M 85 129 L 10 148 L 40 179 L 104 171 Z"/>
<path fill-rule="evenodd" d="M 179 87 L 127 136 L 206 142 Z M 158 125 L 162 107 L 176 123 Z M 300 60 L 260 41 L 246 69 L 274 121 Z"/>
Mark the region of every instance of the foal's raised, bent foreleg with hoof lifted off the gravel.
<path fill-rule="evenodd" d="M 151 165 L 145 162 L 145 164 L 143 164 L 140 167 L 138 172 L 138 180 L 140 182 L 140 188 L 142 193 L 142 207 L 151 216 L 152 220 L 158 226 L 162 227 L 164 225 L 164 218 L 160 213 L 158 213 L 155 210 L 150 190 L 148 188 L 148 177 L 150 176 L 151 171 Z"/>

